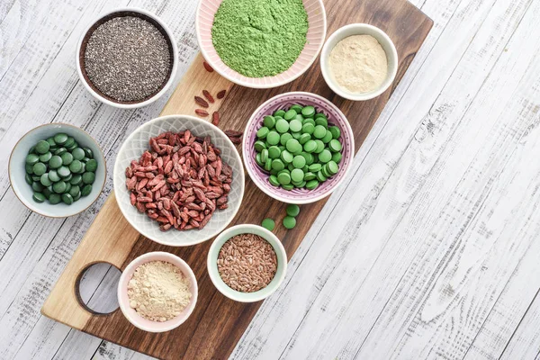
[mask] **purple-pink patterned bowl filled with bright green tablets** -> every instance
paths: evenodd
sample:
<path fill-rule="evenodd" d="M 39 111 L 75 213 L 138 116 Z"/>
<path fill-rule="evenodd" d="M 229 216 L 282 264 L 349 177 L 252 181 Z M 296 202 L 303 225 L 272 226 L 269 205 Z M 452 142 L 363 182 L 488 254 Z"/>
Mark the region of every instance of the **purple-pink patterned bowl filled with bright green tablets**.
<path fill-rule="evenodd" d="M 346 116 L 311 93 L 279 94 L 247 122 L 242 152 L 247 173 L 281 202 L 317 202 L 346 176 L 355 139 Z"/>

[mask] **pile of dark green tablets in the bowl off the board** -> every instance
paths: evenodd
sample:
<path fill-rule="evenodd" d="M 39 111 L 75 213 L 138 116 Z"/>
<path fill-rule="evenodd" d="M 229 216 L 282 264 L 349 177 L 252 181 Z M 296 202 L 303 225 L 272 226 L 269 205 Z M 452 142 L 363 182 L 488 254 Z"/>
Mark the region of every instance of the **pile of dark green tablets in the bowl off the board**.
<path fill-rule="evenodd" d="M 25 169 L 35 202 L 71 205 L 92 192 L 97 161 L 90 148 L 79 148 L 74 138 L 60 132 L 30 148 Z"/>

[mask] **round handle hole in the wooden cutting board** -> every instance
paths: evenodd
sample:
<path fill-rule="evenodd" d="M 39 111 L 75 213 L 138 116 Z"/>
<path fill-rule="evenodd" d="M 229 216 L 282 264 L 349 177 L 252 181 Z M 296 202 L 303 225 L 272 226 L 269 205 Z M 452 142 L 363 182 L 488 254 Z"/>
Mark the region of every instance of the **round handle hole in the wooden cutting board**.
<path fill-rule="evenodd" d="M 109 263 L 86 266 L 77 276 L 76 298 L 86 311 L 94 315 L 106 315 L 119 308 L 116 289 L 121 271 Z"/>

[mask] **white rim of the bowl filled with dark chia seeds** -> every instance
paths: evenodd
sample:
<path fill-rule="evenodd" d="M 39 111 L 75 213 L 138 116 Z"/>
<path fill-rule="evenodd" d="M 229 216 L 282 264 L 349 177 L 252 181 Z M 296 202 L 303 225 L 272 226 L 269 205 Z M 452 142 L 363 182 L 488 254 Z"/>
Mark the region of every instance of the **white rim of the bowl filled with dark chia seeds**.
<path fill-rule="evenodd" d="M 113 102 L 113 101 L 111 101 L 109 99 L 104 98 L 102 95 L 96 93 L 94 91 L 94 89 L 90 85 L 88 85 L 88 83 L 85 80 L 85 76 L 83 75 L 83 72 L 81 70 L 81 63 L 80 63 L 79 54 L 80 54 L 80 51 L 81 51 L 81 47 L 83 45 L 83 40 L 85 40 L 86 33 L 92 28 L 92 26 L 94 26 L 95 23 L 97 23 L 101 19 L 103 19 L 103 17 L 109 16 L 109 15 L 115 14 L 115 13 L 122 13 L 122 12 L 139 13 L 139 14 L 142 14 L 142 15 L 146 15 L 149 18 L 156 21 L 156 23 L 158 23 L 163 28 L 163 30 L 166 32 L 168 40 L 171 42 L 171 46 L 173 48 L 172 49 L 173 64 L 172 64 L 172 68 L 171 68 L 171 73 L 169 75 L 168 80 L 166 81 L 166 84 L 161 88 L 161 90 L 159 90 L 157 92 L 157 94 L 154 94 L 149 99 L 147 99 L 147 100 L 145 100 L 143 102 L 140 102 L 140 103 L 115 103 L 115 102 Z M 157 99 L 159 99 L 161 96 L 163 96 L 163 94 L 166 93 L 166 91 L 171 87 L 171 85 L 175 81 L 175 75 L 176 75 L 176 71 L 178 69 L 178 46 L 176 45 L 175 36 L 174 36 L 173 32 L 169 29 L 169 27 L 166 25 L 166 23 L 163 20 L 161 20 L 161 18 L 158 17 L 156 14 L 152 14 L 152 13 L 148 12 L 147 10 L 141 9 L 139 7 L 129 7 L 129 6 L 117 7 L 117 8 L 114 8 L 112 10 L 106 11 L 106 12 L 104 12 L 102 14 L 99 14 L 97 17 L 94 18 L 94 20 L 91 23 L 88 23 L 88 25 L 85 26 L 84 31 L 82 31 L 82 34 L 81 34 L 79 40 L 76 43 L 75 65 L 76 65 L 76 73 L 78 74 L 81 83 L 83 83 L 83 85 L 85 86 L 85 89 L 90 94 L 92 94 L 92 96 L 94 96 L 95 99 L 99 100 L 102 103 L 105 103 L 107 105 L 110 105 L 110 106 L 113 106 L 113 107 L 116 107 L 116 108 L 119 108 L 119 109 L 137 109 L 139 107 L 143 107 L 143 106 L 146 106 L 146 105 L 148 105 L 150 103 L 154 103 L 155 101 L 157 101 Z"/>

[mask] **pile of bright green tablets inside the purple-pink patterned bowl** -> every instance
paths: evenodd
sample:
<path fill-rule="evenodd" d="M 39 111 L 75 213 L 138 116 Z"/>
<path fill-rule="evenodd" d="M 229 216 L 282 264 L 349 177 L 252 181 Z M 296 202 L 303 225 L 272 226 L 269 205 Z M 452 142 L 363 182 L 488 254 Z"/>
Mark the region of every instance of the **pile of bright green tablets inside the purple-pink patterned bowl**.
<path fill-rule="evenodd" d="M 313 106 L 293 105 L 263 119 L 254 148 L 268 182 L 285 190 L 313 190 L 338 174 L 341 130 Z"/>

